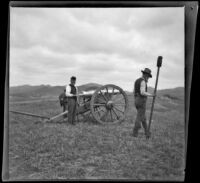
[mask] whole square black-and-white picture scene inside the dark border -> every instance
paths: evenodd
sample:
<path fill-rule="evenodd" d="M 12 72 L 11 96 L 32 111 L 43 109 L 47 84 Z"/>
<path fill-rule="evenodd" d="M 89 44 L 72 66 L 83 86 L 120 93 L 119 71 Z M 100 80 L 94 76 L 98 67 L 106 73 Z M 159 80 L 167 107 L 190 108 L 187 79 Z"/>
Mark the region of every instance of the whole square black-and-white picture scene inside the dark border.
<path fill-rule="evenodd" d="M 10 7 L 9 23 L 9 180 L 184 180 L 184 7 Z"/>

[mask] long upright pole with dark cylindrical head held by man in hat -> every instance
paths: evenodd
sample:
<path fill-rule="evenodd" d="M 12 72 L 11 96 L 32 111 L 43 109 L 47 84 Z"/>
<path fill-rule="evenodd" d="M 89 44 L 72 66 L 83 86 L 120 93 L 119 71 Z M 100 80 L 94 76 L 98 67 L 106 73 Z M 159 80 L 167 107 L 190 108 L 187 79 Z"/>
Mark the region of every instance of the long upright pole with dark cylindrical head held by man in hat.
<path fill-rule="evenodd" d="M 152 101 L 152 105 L 151 105 L 151 113 L 150 113 L 150 118 L 149 118 L 148 132 L 150 132 L 150 128 L 151 128 L 151 121 L 152 121 L 152 117 L 153 117 L 153 109 L 154 109 L 154 103 L 155 103 L 155 99 L 156 99 L 158 77 L 159 77 L 161 65 L 162 65 L 162 56 L 159 56 L 158 60 L 157 60 L 158 69 L 157 69 L 157 75 L 156 75 L 156 84 L 155 84 L 155 88 L 154 88 L 154 97 L 153 97 L 153 101 Z"/>

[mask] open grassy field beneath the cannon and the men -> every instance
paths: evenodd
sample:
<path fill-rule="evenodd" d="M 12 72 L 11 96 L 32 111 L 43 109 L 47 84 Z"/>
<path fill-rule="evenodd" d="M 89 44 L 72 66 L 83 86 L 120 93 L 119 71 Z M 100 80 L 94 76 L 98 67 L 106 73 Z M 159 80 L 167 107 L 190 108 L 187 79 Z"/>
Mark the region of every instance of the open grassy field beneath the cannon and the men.
<path fill-rule="evenodd" d="M 40 119 L 10 113 L 10 180 L 19 179 L 131 179 L 184 180 L 184 103 L 157 98 L 152 137 L 131 136 L 136 117 L 134 99 L 121 124 L 103 126 L 79 120 L 77 124 L 42 123 Z M 149 118 L 151 100 L 147 105 Z M 10 110 L 54 116 L 58 101 L 10 103 Z"/>

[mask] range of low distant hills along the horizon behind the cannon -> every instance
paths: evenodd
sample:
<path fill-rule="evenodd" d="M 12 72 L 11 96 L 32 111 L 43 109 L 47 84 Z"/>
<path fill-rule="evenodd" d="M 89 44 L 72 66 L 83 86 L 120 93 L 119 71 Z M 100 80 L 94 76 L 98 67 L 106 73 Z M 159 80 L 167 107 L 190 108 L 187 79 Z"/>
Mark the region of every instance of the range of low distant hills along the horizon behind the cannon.
<path fill-rule="evenodd" d="M 89 91 L 95 90 L 102 85 L 97 83 L 87 83 L 78 86 L 79 91 Z M 34 98 L 51 98 L 58 97 L 60 93 L 63 92 L 65 86 L 50 86 L 50 85 L 21 85 L 10 87 L 10 98 L 11 99 L 34 99 Z M 148 91 L 153 93 L 154 88 L 149 87 Z M 127 92 L 127 94 L 132 94 L 132 92 Z M 184 88 L 177 87 L 172 89 L 158 90 L 157 95 L 159 97 L 164 97 L 172 100 L 184 100 Z"/>

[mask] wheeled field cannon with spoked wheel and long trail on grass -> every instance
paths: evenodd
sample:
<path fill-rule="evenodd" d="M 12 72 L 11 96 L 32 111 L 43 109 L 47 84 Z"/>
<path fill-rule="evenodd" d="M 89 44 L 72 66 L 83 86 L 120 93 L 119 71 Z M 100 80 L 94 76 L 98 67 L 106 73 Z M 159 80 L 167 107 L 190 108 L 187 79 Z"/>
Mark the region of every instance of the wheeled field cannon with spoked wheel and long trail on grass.
<path fill-rule="evenodd" d="M 77 118 L 79 115 L 84 117 L 86 113 L 90 113 L 98 123 L 116 124 L 122 122 L 126 117 L 128 97 L 125 91 L 119 86 L 113 84 L 103 85 L 94 91 L 83 91 L 78 94 L 78 97 L 79 105 L 76 113 Z M 68 113 L 68 111 L 65 111 L 49 118 L 19 111 L 10 112 L 44 118 L 45 122 L 57 122 L 63 120 L 63 116 Z"/>

